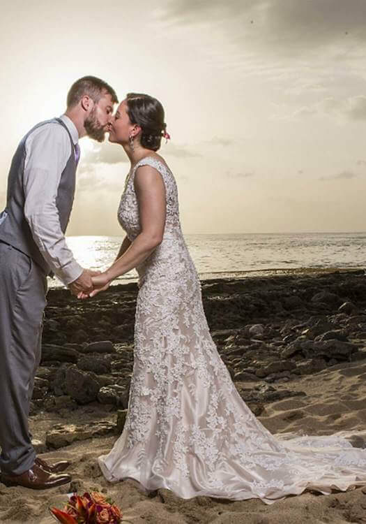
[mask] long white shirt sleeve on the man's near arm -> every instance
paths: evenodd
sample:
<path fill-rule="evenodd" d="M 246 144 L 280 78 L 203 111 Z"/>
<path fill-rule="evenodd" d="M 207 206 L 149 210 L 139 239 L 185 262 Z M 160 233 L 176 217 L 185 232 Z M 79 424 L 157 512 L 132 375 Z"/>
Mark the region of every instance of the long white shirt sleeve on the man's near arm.
<path fill-rule="evenodd" d="M 24 215 L 45 261 L 67 286 L 83 271 L 66 244 L 56 208 L 61 173 L 71 154 L 70 138 L 62 126 L 47 124 L 29 135 L 25 147 Z"/>

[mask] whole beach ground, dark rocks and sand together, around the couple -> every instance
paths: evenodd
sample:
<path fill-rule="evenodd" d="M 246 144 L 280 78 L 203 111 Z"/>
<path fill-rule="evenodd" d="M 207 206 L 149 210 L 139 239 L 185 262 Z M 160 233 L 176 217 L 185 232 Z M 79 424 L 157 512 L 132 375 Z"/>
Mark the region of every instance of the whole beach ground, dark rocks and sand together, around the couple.
<path fill-rule="evenodd" d="M 202 282 L 204 307 L 222 359 L 245 402 L 273 433 L 352 431 L 366 447 L 366 277 L 364 272 L 275 275 Z M 31 409 L 41 456 L 66 458 L 70 485 L 33 491 L 0 484 L 0 521 L 51 524 L 49 505 L 72 491 L 100 490 L 136 523 L 366 523 L 366 486 L 260 500 L 181 500 L 110 484 L 96 459 L 123 425 L 133 362 L 136 284 L 80 303 L 49 291 Z"/>

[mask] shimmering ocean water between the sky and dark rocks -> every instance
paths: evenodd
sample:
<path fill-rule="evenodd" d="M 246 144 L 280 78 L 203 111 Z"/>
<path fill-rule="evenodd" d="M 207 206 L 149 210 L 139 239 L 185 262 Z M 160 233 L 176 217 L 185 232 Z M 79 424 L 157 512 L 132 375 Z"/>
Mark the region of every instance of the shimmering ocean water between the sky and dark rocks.
<path fill-rule="evenodd" d="M 70 236 L 68 246 L 84 268 L 112 263 L 122 237 Z M 298 270 L 366 268 L 365 233 L 246 233 L 185 235 L 201 279 L 245 278 Z M 135 282 L 132 270 L 114 283 Z M 62 286 L 49 279 L 49 287 Z"/>

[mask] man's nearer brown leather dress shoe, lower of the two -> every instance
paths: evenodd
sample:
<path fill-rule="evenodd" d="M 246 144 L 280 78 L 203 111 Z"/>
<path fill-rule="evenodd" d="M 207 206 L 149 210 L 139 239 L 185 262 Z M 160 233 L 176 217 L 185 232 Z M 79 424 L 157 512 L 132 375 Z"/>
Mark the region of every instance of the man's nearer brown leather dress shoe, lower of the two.
<path fill-rule="evenodd" d="M 45 490 L 55 488 L 71 481 L 70 475 L 55 475 L 45 472 L 41 467 L 34 464 L 30 470 L 26 470 L 21 475 L 6 475 L 1 473 L 0 480 L 6 486 L 23 486 L 33 490 Z"/>

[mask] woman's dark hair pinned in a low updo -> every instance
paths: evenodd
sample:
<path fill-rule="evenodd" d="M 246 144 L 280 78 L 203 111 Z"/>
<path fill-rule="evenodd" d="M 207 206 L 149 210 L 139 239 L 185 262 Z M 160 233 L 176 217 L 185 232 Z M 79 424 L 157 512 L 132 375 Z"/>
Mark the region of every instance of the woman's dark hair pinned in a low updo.
<path fill-rule="evenodd" d="M 127 113 L 131 124 L 141 127 L 140 143 L 148 150 L 158 151 L 167 124 L 164 122 L 164 108 L 153 96 L 142 93 L 128 93 Z"/>

